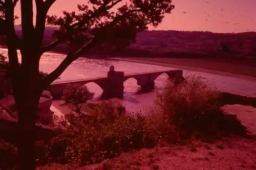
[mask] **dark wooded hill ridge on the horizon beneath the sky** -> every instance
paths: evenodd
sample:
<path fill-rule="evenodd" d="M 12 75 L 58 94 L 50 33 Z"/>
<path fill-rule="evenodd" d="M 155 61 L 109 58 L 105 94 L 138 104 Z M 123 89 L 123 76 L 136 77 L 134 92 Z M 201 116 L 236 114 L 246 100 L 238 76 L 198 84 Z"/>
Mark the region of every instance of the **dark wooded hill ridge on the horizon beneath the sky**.
<path fill-rule="evenodd" d="M 56 27 L 47 27 L 44 44 L 52 41 L 52 33 Z M 21 35 L 20 26 L 16 26 L 17 34 Z M 4 42 L 0 42 L 4 45 Z M 256 32 L 245 33 L 211 33 L 211 32 L 184 32 L 184 31 L 145 31 L 137 34 L 136 43 L 125 49 L 109 50 L 100 47 L 91 53 L 133 56 L 187 56 L 195 55 L 223 55 L 223 45 L 229 48 L 229 54 L 237 57 L 256 56 Z M 67 53 L 66 44 L 58 45 L 54 51 Z M 98 53 L 100 51 L 100 53 Z M 179 54 L 179 55 L 178 55 Z M 187 56 L 192 57 L 192 56 Z"/>

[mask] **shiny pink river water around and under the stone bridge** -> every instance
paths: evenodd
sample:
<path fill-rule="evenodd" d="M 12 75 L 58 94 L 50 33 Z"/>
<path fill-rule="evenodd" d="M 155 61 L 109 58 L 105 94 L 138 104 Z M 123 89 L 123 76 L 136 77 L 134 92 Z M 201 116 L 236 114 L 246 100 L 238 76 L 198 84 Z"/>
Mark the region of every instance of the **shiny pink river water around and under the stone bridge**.
<path fill-rule="evenodd" d="M 0 53 L 7 54 L 7 50 L 0 48 Z M 63 60 L 65 55 L 55 54 L 55 53 L 45 53 L 40 60 L 40 70 L 44 72 L 51 72 L 54 70 L 58 64 Z M 19 55 L 20 61 L 20 55 Z M 170 70 L 178 69 L 172 67 L 165 67 L 159 65 L 134 63 L 120 60 L 112 59 L 87 59 L 79 58 L 74 61 L 60 76 L 60 79 L 56 81 L 67 81 L 67 80 L 77 80 L 77 79 L 87 79 L 106 76 L 109 71 L 109 67 L 114 65 L 115 70 L 124 71 L 124 74 L 135 74 L 139 72 L 148 71 L 160 71 L 160 70 Z M 221 91 L 228 91 L 243 95 L 256 95 L 256 81 L 246 80 L 234 77 L 227 77 L 221 75 L 213 75 L 205 72 L 183 70 L 184 77 L 189 75 L 197 75 L 202 77 L 209 85 L 216 86 Z M 156 81 L 156 88 L 162 88 L 167 76 L 161 75 Z M 95 93 L 95 101 L 98 96 L 102 93 L 102 89 L 94 84 L 87 84 L 90 91 Z M 118 100 L 122 103 L 129 111 L 144 110 L 149 106 L 152 106 L 154 101 L 155 92 L 136 94 L 139 90 L 139 86 L 135 79 L 129 79 L 124 82 L 124 99 Z"/>

